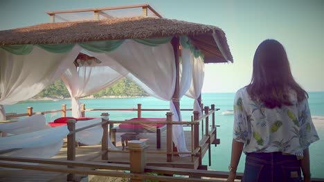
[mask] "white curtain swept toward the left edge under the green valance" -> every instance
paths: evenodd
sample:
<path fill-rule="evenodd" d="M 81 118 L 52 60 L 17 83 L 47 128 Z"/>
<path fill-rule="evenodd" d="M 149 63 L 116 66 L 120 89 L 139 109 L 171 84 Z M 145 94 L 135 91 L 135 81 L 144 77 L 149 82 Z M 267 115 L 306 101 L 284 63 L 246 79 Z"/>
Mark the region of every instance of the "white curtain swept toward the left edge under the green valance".
<path fill-rule="evenodd" d="M 73 62 L 80 51 L 75 46 L 69 53 L 51 53 L 34 46 L 28 55 L 15 55 L 0 49 L 0 105 L 14 104 L 34 97 L 60 77 L 66 63 Z M 0 107 L 0 121 L 6 119 Z"/>

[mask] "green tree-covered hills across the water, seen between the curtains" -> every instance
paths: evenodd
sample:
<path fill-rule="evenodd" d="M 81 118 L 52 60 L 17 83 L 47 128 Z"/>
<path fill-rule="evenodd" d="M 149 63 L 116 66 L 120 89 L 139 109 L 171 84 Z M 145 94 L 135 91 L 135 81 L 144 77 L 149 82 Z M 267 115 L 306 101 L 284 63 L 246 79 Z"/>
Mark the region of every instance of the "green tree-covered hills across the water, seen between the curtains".
<path fill-rule="evenodd" d="M 138 97 L 138 96 L 148 96 L 148 94 L 136 85 L 134 82 L 127 78 L 120 79 L 109 88 L 100 90 L 99 92 L 93 94 L 93 97 L 109 97 L 109 96 L 121 96 L 121 97 Z M 48 88 L 45 88 L 37 94 L 35 97 L 70 97 L 69 91 L 66 89 L 63 81 L 61 79 L 57 80 Z"/>

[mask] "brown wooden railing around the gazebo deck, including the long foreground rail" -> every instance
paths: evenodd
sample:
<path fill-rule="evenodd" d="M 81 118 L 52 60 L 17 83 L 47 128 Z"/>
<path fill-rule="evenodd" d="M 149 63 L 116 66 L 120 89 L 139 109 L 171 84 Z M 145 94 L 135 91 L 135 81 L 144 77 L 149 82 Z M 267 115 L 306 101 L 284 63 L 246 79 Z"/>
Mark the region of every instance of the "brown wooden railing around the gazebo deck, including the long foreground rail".
<path fill-rule="evenodd" d="M 139 109 L 138 109 L 139 108 Z M 138 115 L 141 116 L 141 112 L 143 109 L 138 107 L 137 110 Z M 88 128 L 94 127 L 96 125 L 102 125 L 103 134 L 102 134 L 102 148 L 99 155 L 101 155 L 102 160 L 108 159 L 109 152 L 124 152 L 124 151 L 112 151 L 108 150 L 108 125 L 111 123 L 133 123 L 133 124 L 156 124 L 163 123 L 169 126 L 167 132 L 167 151 L 159 152 L 161 154 L 167 154 L 167 161 L 172 161 L 172 156 L 174 154 L 191 154 L 193 156 L 199 156 L 199 163 L 201 164 L 201 158 L 204 156 L 204 152 L 206 152 L 206 145 L 208 146 L 208 150 L 210 151 L 210 144 L 218 144 L 219 139 L 217 139 L 217 125 L 215 123 L 215 105 L 211 105 L 211 110 L 206 106 L 204 108 L 204 115 L 199 117 L 199 112 L 193 112 L 193 120 L 192 121 L 172 121 L 171 116 L 172 113 L 168 112 L 167 121 L 109 121 L 107 118 L 109 116 L 108 113 L 102 113 L 102 122 L 96 123 L 93 125 L 89 125 L 84 128 L 80 128 L 75 130 L 75 120 L 69 120 L 67 125 L 69 128 L 69 134 L 67 136 L 67 160 L 53 160 L 53 159 L 30 159 L 30 158 L 21 158 L 21 157 L 8 157 L 8 156 L 0 156 L 0 161 L 11 161 L 12 163 L 4 163 L 0 162 L 0 166 L 3 168 L 19 168 L 26 170 L 39 170 L 39 171 L 51 171 L 51 172 L 63 172 L 69 173 L 67 176 L 67 181 L 73 181 L 75 178 L 75 174 L 92 174 L 99 176 L 115 176 L 115 177 L 126 177 L 131 179 L 131 181 L 143 181 L 147 180 L 158 180 L 158 181 L 217 181 L 214 179 L 197 179 L 201 177 L 211 177 L 211 178 L 220 178 L 226 179 L 228 176 L 228 172 L 217 172 L 217 171 L 208 171 L 208 170 L 189 170 L 189 169 L 181 169 L 177 168 L 162 168 L 162 167 L 149 167 L 146 166 L 145 154 L 150 153 L 147 151 L 146 145 L 134 145 L 129 147 L 129 165 L 121 165 L 121 164 L 112 164 L 112 163 L 100 163 L 100 162 L 89 162 L 89 161 L 75 161 L 75 133 L 80 132 L 82 130 L 86 130 Z M 34 114 L 33 108 L 28 108 L 30 114 Z M 62 107 L 62 110 L 65 110 Z M 56 110 L 61 112 L 62 110 Z M 109 109 L 114 110 L 114 109 Z M 118 109 L 120 110 L 120 109 Z M 127 109 L 129 110 L 129 109 Z M 56 112 L 55 111 L 55 112 Z M 151 110 L 152 111 L 152 110 Z M 159 110 L 161 111 L 161 110 Z M 53 112 L 53 111 L 51 111 Z M 209 124 L 209 118 L 211 117 L 211 128 Z M 201 140 L 199 141 L 199 123 L 204 123 L 204 128 L 201 130 L 204 131 L 201 134 Z M 191 152 L 173 152 L 172 151 L 172 125 L 173 124 L 181 124 L 181 125 L 190 125 L 192 128 L 192 149 Z M 142 141 L 144 142 L 144 141 Z M 132 143 L 130 141 L 129 143 Z M 7 151 L 8 152 L 8 151 Z M 3 153 L 3 151 L 2 151 Z M 210 154 L 209 154 L 210 156 Z M 136 159 L 136 160 L 134 160 Z M 14 162 L 25 162 L 25 163 L 41 163 L 44 165 L 30 165 L 30 164 L 21 164 Z M 209 163 L 210 164 L 210 163 Z M 55 165 L 55 166 L 53 166 Z M 118 171 L 98 171 L 97 169 L 105 169 L 105 170 L 127 170 L 129 173 L 118 172 Z M 145 172 L 156 172 L 161 174 L 178 174 L 184 175 L 188 177 L 174 177 L 174 176 L 152 176 L 145 174 Z M 237 174 L 237 179 L 241 179 L 242 174 Z M 312 179 L 312 181 L 324 181 L 324 179 Z"/>

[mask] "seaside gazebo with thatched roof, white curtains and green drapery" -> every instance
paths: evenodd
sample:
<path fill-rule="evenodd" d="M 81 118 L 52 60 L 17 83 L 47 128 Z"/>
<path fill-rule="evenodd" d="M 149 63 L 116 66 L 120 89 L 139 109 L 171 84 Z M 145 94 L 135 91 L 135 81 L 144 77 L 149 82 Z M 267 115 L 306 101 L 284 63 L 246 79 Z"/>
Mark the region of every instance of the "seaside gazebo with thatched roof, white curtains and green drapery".
<path fill-rule="evenodd" d="M 103 10 L 88 11 L 98 17 Z M 52 20 L 57 13 L 64 12 L 48 12 Z M 78 64 L 84 57 L 98 61 Z M 2 30 L 0 60 L 0 120 L 6 119 L 3 105 L 30 99 L 60 77 L 71 94 L 73 117 L 80 117 L 79 97 L 127 77 L 170 101 L 172 121 L 181 121 L 179 100 L 185 94 L 201 112 L 204 63 L 231 63 L 233 57 L 220 28 L 143 16 Z M 172 132 L 178 151 L 186 151 L 182 125 L 173 125 Z"/>

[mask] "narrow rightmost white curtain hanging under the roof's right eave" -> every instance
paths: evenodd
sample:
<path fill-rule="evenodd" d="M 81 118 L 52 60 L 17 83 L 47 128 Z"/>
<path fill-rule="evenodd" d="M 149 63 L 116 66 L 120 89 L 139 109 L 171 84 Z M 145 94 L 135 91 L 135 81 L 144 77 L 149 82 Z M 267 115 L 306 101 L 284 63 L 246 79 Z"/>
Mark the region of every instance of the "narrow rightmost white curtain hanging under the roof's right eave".
<path fill-rule="evenodd" d="M 199 105 L 198 98 L 201 94 L 201 88 L 204 84 L 204 59 L 201 57 L 194 58 L 192 63 L 192 81 L 191 86 L 186 96 L 195 99 L 194 110 L 199 111 L 199 116 L 201 116 L 201 105 Z"/>

